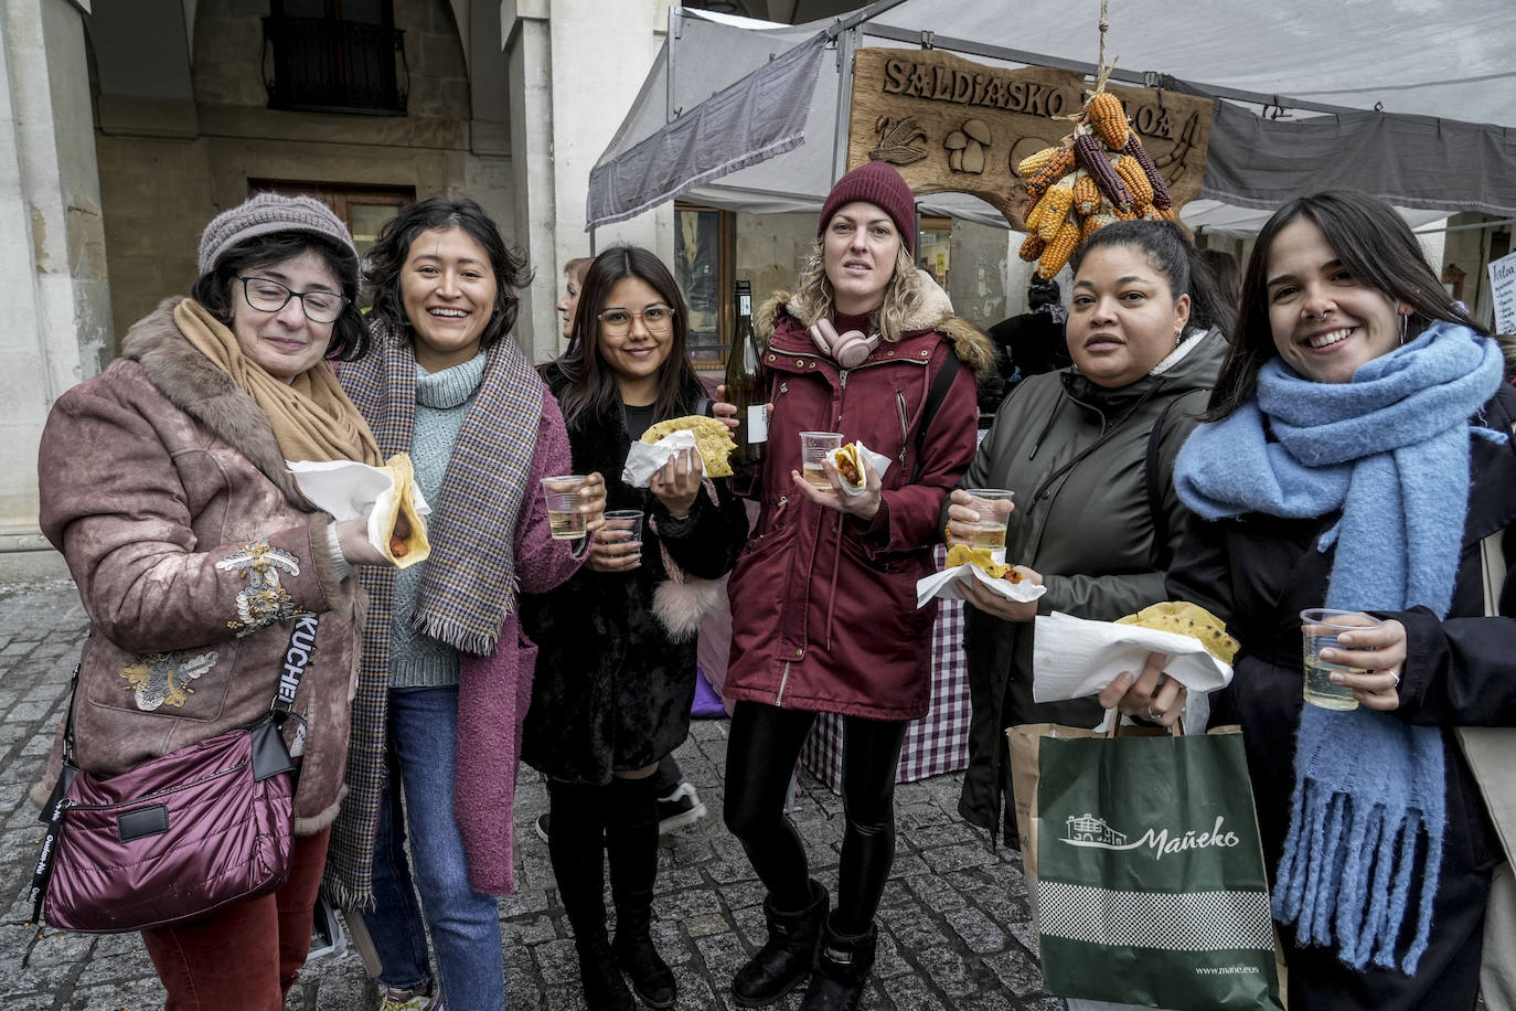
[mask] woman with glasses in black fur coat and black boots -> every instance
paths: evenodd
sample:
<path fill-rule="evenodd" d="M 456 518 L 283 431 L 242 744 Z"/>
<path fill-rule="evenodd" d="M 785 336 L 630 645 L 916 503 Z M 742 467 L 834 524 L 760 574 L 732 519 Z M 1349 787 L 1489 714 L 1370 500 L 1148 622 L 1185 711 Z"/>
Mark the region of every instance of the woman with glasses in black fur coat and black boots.
<path fill-rule="evenodd" d="M 641 541 L 597 534 L 584 568 L 522 602 L 522 624 L 540 650 L 522 758 L 547 776 L 549 855 L 594 1009 L 635 1006 L 623 970 L 647 1005 L 675 1003 L 673 973 L 649 937 L 658 870 L 650 775 L 690 731 L 696 631 L 723 603 L 722 577 L 747 538 L 741 502 L 726 479 L 703 476 L 693 450 L 672 456 L 650 488 L 620 480 L 632 440 L 655 421 L 694 414 L 700 400 L 687 315 L 655 255 L 611 249 L 585 274 L 575 350 L 544 370 L 568 424 L 575 473 L 606 476 L 606 509 L 646 514 Z"/>

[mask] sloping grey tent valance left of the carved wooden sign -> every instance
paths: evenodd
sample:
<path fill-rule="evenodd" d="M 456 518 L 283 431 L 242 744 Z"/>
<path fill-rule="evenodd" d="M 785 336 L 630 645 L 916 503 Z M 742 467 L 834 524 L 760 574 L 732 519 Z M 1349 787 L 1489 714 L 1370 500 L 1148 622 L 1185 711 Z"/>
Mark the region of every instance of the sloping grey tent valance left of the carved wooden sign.
<path fill-rule="evenodd" d="M 596 165 L 590 171 L 587 230 L 635 217 L 703 182 L 803 144 L 825 52 L 822 32 Z M 666 53 L 659 55 L 653 74 L 666 59 Z"/>

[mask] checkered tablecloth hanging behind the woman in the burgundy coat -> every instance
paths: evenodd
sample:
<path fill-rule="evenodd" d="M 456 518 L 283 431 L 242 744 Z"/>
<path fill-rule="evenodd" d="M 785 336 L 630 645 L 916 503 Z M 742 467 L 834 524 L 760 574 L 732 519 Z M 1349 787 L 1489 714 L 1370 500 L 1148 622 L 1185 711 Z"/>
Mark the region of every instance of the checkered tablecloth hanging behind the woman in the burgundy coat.
<path fill-rule="evenodd" d="M 948 552 L 935 552 L 937 568 Z M 932 626 L 932 708 L 913 720 L 901 747 L 896 782 L 913 782 L 969 765 L 969 668 L 963 658 L 963 602 L 941 600 Z M 843 721 L 823 712 L 811 728 L 800 761 L 832 793 L 843 791 Z"/>

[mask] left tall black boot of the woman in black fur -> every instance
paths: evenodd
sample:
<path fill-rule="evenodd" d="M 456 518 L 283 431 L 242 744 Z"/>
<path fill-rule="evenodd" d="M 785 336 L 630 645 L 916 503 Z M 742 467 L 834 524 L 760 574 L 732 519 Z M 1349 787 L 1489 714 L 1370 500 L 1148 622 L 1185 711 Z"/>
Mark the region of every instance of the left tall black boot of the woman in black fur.
<path fill-rule="evenodd" d="M 585 1005 L 590 1011 L 637 1011 L 605 932 L 605 850 L 600 837 L 606 794 L 605 787 L 547 781 L 553 826 L 547 855 L 558 881 L 558 897 L 573 926 Z"/>

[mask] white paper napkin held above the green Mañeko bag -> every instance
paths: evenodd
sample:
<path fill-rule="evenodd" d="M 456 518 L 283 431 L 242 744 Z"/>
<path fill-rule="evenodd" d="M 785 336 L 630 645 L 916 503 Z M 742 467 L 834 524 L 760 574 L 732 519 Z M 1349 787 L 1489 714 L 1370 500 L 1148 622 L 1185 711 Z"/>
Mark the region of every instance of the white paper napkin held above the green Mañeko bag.
<path fill-rule="evenodd" d="M 1193 635 L 1090 621 L 1054 611 L 1037 617 L 1032 699 L 1064 702 L 1099 694 L 1123 670 L 1140 673 L 1148 653 L 1169 655 L 1164 673 L 1189 688 L 1192 700 L 1231 684 L 1231 667 L 1207 653 Z M 1193 721 L 1193 714 L 1186 720 Z M 1204 731 L 1204 721 L 1196 729 Z"/>

